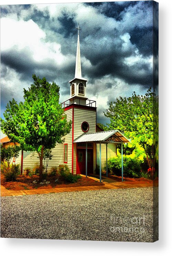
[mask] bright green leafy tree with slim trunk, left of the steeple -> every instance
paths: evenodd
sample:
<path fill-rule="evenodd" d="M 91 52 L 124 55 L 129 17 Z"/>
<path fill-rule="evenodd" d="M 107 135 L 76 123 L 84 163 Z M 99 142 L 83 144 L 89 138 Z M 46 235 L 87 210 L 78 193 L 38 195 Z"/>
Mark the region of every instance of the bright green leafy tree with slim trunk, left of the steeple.
<path fill-rule="evenodd" d="M 1 119 L 1 129 L 12 142 L 18 142 L 25 151 L 36 151 L 40 159 L 40 181 L 42 181 L 44 149 L 62 143 L 63 136 L 71 130 L 59 103 L 60 87 L 50 84 L 45 77 L 33 76 L 34 83 L 24 89 L 24 102 L 13 99 L 7 104 Z"/>

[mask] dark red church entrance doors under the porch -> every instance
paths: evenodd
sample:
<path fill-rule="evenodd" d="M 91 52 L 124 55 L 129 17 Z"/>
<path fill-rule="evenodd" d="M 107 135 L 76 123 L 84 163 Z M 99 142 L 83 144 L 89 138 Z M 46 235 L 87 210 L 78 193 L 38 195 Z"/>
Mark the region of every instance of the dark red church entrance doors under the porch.
<path fill-rule="evenodd" d="M 86 149 L 77 148 L 76 174 L 86 173 Z M 87 149 L 87 173 L 93 173 L 93 149 Z"/>

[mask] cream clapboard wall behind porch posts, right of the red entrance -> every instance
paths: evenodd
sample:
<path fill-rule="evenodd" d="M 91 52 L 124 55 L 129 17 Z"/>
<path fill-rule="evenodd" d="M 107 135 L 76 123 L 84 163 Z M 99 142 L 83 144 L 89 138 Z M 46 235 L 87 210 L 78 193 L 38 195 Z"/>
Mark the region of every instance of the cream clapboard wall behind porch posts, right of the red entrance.
<path fill-rule="evenodd" d="M 116 156 L 116 144 L 108 144 L 108 159 Z M 101 168 L 103 170 L 106 164 L 106 144 L 101 144 Z M 97 165 L 100 165 L 100 144 L 97 144 Z"/>

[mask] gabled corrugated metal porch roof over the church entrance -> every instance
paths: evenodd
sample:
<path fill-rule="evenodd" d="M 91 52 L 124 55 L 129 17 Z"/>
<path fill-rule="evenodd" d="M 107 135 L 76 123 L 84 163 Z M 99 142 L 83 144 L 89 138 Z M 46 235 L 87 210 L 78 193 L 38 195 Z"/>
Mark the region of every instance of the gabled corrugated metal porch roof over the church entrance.
<path fill-rule="evenodd" d="M 82 134 L 74 140 L 77 142 L 106 142 L 106 143 L 127 143 L 130 142 L 119 130 L 100 131 Z"/>

